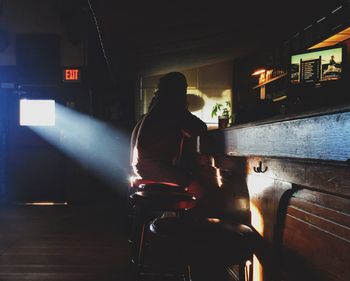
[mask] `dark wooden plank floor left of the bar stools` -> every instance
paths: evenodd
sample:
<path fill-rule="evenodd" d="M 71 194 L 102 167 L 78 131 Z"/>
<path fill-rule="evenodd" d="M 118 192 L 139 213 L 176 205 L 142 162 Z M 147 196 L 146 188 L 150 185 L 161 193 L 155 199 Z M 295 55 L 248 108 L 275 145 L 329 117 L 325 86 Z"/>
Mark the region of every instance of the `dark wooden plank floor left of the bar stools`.
<path fill-rule="evenodd" d="M 0 281 L 130 280 L 116 206 L 0 208 Z"/>

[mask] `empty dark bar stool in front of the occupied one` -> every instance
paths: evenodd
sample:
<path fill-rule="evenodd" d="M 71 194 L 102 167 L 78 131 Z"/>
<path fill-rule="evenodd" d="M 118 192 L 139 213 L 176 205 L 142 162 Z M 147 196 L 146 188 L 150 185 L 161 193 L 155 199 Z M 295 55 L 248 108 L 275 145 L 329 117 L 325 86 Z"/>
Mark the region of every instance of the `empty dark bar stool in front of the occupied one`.
<path fill-rule="evenodd" d="M 252 260 L 255 234 L 245 224 L 218 218 L 156 218 L 150 224 L 155 236 L 154 251 L 163 258 L 202 268 L 213 265 L 238 265 L 240 281 L 252 278 L 251 266 L 245 272 L 247 261 Z"/>

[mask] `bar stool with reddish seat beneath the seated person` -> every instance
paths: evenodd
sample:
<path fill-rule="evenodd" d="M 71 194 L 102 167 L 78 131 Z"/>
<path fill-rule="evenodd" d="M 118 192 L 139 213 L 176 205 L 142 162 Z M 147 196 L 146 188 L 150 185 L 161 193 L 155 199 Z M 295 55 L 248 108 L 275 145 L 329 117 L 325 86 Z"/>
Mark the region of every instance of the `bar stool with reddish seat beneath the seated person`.
<path fill-rule="evenodd" d="M 152 272 L 145 263 L 147 232 L 149 224 L 155 217 L 161 217 L 164 212 L 172 212 L 173 219 L 183 218 L 186 211 L 193 208 L 196 198 L 187 189 L 163 183 L 141 184 L 137 191 L 130 195 L 130 202 L 134 206 L 132 231 L 131 262 L 136 277 L 142 274 L 160 274 Z M 147 272 L 147 269 L 149 270 Z M 183 272 L 187 274 L 187 272 Z"/>

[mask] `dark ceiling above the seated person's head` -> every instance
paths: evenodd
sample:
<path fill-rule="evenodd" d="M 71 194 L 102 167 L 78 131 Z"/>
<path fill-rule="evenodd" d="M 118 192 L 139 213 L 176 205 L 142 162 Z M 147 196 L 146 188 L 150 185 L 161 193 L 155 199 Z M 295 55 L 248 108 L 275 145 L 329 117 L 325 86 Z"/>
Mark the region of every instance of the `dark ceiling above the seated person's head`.
<path fill-rule="evenodd" d="M 89 3 L 114 71 L 150 75 L 268 50 L 348 1 Z"/>

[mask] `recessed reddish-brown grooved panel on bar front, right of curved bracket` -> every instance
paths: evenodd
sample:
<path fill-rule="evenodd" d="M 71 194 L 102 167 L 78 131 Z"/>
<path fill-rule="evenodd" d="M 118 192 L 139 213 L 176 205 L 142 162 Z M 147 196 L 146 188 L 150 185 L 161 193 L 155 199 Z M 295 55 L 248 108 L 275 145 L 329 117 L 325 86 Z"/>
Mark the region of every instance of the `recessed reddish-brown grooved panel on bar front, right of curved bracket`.
<path fill-rule="evenodd" d="M 349 280 L 349 201 L 317 193 L 300 190 L 288 206 L 283 230 L 285 279 Z"/>

